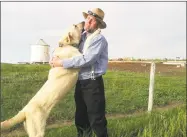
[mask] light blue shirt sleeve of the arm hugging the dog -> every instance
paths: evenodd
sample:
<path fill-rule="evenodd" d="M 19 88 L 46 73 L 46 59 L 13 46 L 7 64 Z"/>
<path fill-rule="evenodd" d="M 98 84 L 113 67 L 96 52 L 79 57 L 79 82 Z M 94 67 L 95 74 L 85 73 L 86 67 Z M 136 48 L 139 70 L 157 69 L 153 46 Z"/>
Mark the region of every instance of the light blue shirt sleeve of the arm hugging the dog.
<path fill-rule="evenodd" d="M 96 37 L 86 50 L 85 54 L 62 60 L 64 68 L 80 68 L 92 65 L 99 59 L 102 51 L 107 46 L 104 37 Z"/>

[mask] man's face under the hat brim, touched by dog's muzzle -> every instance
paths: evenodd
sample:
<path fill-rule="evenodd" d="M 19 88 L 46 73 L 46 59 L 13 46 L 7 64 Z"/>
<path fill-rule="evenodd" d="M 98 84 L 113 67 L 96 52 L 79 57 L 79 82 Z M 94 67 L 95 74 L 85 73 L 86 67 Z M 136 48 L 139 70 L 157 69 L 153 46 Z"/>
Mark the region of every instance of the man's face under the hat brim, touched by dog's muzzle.
<path fill-rule="evenodd" d="M 85 20 L 84 30 L 93 33 L 97 28 L 97 21 L 94 16 L 88 15 Z"/>

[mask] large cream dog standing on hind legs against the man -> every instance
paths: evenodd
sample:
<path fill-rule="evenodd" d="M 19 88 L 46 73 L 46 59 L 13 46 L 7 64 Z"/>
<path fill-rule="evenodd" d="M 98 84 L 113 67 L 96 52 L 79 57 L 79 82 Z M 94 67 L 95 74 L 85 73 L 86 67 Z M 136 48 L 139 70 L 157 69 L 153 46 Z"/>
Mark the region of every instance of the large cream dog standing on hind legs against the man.
<path fill-rule="evenodd" d="M 61 59 L 80 56 L 81 53 L 73 46 L 79 44 L 83 27 L 84 22 L 81 22 L 68 29 L 60 40 L 59 47 L 55 49 L 54 56 Z M 89 40 L 98 33 L 100 33 L 100 30 L 90 35 L 85 44 L 88 44 Z M 87 48 L 88 45 L 85 45 L 85 47 Z M 24 122 L 29 137 L 43 137 L 46 120 L 51 109 L 75 86 L 78 72 L 79 69 L 73 68 L 51 68 L 48 80 L 41 89 L 16 116 L 1 122 L 1 130 L 9 129 L 18 123 Z"/>

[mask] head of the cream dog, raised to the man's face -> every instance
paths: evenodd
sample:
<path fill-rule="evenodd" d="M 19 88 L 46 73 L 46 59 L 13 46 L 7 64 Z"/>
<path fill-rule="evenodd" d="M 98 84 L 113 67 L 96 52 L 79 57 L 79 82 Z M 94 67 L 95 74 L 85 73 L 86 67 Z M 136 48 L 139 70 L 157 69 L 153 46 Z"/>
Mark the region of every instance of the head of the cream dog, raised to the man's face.
<path fill-rule="evenodd" d="M 84 28 L 84 22 L 71 26 L 59 41 L 59 47 L 63 45 L 78 45 Z"/>

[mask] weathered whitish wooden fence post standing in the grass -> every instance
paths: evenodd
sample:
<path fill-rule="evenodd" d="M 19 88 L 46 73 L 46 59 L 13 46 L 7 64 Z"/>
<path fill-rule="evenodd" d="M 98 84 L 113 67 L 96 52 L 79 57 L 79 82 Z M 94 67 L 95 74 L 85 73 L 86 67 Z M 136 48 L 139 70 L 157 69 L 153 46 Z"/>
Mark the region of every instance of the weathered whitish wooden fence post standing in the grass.
<path fill-rule="evenodd" d="M 155 77 L 155 63 L 152 62 L 151 70 L 150 70 L 150 82 L 149 82 L 148 112 L 151 112 L 153 108 L 154 77 Z"/>

